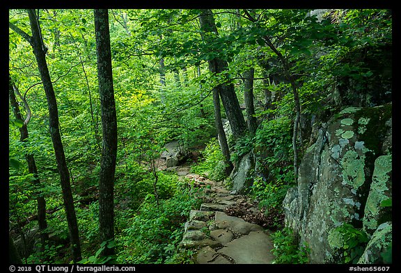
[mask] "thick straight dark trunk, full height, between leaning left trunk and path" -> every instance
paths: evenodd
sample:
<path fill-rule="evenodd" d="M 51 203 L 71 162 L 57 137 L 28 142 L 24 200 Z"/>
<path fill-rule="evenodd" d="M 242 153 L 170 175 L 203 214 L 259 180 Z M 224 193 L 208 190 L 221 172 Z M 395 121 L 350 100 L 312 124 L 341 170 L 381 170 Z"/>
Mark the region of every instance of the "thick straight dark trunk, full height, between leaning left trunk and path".
<path fill-rule="evenodd" d="M 100 240 L 114 239 L 114 174 L 117 158 L 117 117 L 114 101 L 113 73 L 108 10 L 94 10 L 97 78 L 99 81 L 102 113 L 102 162 L 99 180 L 99 232 Z M 102 256 L 114 254 L 114 248 L 105 247 Z"/>

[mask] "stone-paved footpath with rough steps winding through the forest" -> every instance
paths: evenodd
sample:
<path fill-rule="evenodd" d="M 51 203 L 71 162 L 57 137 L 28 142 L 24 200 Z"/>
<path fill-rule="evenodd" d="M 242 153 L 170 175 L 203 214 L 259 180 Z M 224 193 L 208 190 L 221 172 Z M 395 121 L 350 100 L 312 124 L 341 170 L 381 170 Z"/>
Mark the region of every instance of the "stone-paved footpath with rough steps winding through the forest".
<path fill-rule="evenodd" d="M 260 224 L 262 212 L 245 195 L 232 195 L 223 182 L 175 168 L 180 179 L 203 188 L 200 210 L 191 210 L 181 247 L 196 249 L 198 264 L 269 264 L 274 260 L 269 232 Z M 236 215 L 236 216 L 232 216 Z M 237 217 L 238 216 L 238 217 Z"/>

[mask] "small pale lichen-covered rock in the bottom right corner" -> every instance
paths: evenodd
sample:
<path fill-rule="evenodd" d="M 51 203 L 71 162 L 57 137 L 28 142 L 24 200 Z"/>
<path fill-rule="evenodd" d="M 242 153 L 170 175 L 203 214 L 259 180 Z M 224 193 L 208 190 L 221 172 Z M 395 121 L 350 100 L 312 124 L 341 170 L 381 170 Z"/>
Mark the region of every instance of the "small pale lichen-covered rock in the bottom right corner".
<path fill-rule="evenodd" d="M 393 225 L 391 222 L 385 222 L 378 226 L 375 233 L 373 233 L 358 263 L 391 263 L 391 259 L 385 260 L 384 255 L 388 251 L 391 252 L 389 247 L 392 242 Z"/>

